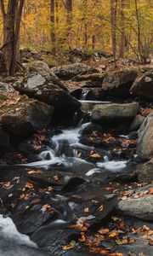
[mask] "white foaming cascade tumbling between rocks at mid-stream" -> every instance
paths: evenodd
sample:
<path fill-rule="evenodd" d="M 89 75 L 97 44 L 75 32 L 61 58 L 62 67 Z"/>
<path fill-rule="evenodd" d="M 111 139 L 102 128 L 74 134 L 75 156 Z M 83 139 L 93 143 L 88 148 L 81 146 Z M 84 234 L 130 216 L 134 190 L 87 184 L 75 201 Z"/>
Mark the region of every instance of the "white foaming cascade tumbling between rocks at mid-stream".
<path fill-rule="evenodd" d="M 88 163 L 86 160 L 78 158 L 79 149 L 88 149 L 88 151 L 94 150 L 94 147 L 83 145 L 80 143 L 81 131 L 89 123 L 82 124 L 76 128 L 64 129 L 58 135 L 51 137 L 51 143 L 53 144 L 52 148 L 42 151 L 39 154 L 39 161 L 27 163 L 24 166 L 42 166 L 48 168 L 54 164 L 60 165 L 64 164 L 65 166 L 73 166 L 75 163 Z M 63 147 L 63 148 L 61 148 Z M 71 156 L 66 154 L 66 148 L 68 148 Z M 123 168 L 126 167 L 127 160 L 109 160 L 108 155 L 104 155 L 104 162 L 97 162 L 96 166 L 100 169 L 105 169 L 110 172 L 120 172 Z M 95 171 L 96 172 L 96 171 Z M 94 173 L 94 170 L 91 170 L 87 173 L 87 176 L 90 176 Z"/>

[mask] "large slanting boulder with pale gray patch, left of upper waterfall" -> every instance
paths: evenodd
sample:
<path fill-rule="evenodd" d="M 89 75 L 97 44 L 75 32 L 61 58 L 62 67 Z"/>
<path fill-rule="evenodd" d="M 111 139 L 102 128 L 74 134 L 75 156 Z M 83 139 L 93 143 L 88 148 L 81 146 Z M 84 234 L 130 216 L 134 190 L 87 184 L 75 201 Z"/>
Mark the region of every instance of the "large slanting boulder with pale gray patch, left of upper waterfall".
<path fill-rule="evenodd" d="M 22 94 L 53 106 L 57 121 L 72 119 L 81 106 L 80 102 L 68 93 L 65 85 L 52 75 L 31 73 L 14 84 L 14 88 Z"/>

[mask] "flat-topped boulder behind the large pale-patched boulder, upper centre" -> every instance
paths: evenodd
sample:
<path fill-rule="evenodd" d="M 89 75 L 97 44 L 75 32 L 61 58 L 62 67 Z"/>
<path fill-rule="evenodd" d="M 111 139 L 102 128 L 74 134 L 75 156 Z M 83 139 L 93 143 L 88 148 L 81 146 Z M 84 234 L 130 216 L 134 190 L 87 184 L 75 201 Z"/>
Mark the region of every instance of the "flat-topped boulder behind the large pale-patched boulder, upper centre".
<path fill-rule="evenodd" d="M 89 70 L 89 67 L 82 63 L 75 63 L 75 64 L 63 65 L 59 67 L 52 67 L 50 70 L 59 79 L 69 80 L 79 74 L 87 73 L 87 71 Z"/>

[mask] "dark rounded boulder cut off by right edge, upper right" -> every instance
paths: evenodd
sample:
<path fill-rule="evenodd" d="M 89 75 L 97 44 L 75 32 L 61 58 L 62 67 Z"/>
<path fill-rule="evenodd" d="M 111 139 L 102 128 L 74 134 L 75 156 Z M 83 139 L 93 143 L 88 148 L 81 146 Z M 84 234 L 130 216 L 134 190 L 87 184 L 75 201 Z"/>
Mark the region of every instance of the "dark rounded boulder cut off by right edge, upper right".
<path fill-rule="evenodd" d="M 144 73 L 143 76 L 136 79 L 131 88 L 131 92 L 135 96 L 153 100 L 153 69 L 152 71 Z"/>

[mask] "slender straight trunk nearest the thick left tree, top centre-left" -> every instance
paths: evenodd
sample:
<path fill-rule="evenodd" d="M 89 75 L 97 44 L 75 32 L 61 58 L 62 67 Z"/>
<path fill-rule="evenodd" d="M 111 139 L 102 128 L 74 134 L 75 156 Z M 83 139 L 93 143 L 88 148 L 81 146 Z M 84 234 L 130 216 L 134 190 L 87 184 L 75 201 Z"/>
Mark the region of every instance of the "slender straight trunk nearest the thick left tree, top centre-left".
<path fill-rule="evenodd" d="M 54 5 L 54 0 L 51 0 L 50 2 L 50 21 L 51 21 L 51 51 L 52 54 L 55 55 L 56 54 L 56 47 L 55 47 L 55 43 L 56 43 L 56 36 L 55 36 L 55 5 Z"/>

